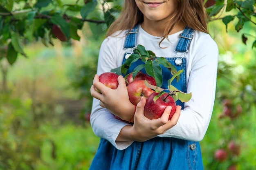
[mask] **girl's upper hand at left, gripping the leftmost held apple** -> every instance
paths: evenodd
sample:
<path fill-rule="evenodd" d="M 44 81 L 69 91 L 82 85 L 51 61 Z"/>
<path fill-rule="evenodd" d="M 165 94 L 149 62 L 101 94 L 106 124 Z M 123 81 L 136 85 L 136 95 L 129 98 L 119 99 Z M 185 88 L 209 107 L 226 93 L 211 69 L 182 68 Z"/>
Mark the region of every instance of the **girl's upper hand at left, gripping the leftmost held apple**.
<path fill-rule="evenodd" d="M 119 76 L 117 81 L 117 89 L 111 89 L 99 82 L 99 76 L 95 75 L 90 92 L 92 97 L 100 100 L 101 107 L 107 108 L 111 113 L 123 120 L 130 121 L 134 114 L 135 106 L 129 100 L 124 77 Z M 94 87 L 101 93 L 95 91 Z"/>

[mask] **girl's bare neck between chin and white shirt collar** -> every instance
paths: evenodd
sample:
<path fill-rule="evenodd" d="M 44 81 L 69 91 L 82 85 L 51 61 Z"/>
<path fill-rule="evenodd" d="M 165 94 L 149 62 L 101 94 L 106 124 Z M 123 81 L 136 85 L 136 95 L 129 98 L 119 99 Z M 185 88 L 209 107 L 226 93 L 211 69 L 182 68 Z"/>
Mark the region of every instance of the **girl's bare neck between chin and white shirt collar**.
<path fill-rule="evenodd" d="M 163 23 L 144 21 L 141 23 L 141 27 L 144 29 L 144 31 L 146 31 L 150 35 L 157 36 L 157 37 L 164 36 L 165 26 Z M 184 27 L 185 27 L 184 24 L 181 24 L 181 23 L 175 24 L 174 28 L 172 29 L 171 33 L 169 33 L 169 35 L 182 31 Z"/>

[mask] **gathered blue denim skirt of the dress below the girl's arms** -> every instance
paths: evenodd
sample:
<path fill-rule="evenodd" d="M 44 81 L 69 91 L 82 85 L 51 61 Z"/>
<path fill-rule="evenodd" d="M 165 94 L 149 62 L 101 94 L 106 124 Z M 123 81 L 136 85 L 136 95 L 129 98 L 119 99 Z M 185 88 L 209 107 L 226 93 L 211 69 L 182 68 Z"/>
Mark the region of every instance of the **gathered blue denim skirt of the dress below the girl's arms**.
<path fill-rule="evenodd" d="M 90 170 L 203 170 L 199 142 L 155 137 L 118 150 L 101 139 Z"/>

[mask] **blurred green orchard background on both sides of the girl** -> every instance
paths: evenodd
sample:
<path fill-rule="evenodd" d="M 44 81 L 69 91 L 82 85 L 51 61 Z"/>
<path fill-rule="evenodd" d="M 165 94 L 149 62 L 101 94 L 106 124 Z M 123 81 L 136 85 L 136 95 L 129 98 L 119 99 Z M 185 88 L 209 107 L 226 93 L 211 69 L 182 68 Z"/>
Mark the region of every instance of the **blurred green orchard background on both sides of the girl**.
<path fill-rule="evenodd" d="M 256 170 L 255 4 L 206 6 L 220 55 L 213 115 L 200 142 L 205 170 Z M 89 122 L 90 86 L 121 6 L 0 1 L 0 170 L 88 170 L 99 143 Z M 64 35 L 54 35 L 53 25 Z"/>

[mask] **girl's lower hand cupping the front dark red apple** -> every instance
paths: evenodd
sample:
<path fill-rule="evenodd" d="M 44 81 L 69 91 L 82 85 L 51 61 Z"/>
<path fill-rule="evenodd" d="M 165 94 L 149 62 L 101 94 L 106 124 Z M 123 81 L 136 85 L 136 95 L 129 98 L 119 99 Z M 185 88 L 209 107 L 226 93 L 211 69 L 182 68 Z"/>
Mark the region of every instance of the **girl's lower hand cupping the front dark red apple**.
<path fill-rule="evenodd" d="M 147 141 L 157 135 L 163 134 L 166 130 L 177 124 L 181 106 L 177 106 L 176 112 L 171 120 L 168 120 L 171 106 L 166 107 L 162 117 L 150 120 L 144 116 L 145 104 L 146 98 L 141 97 L 141 101 L 137 104 L 133 126 L 124 126 L 117 137 L 117 141 Z"/>

